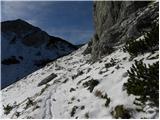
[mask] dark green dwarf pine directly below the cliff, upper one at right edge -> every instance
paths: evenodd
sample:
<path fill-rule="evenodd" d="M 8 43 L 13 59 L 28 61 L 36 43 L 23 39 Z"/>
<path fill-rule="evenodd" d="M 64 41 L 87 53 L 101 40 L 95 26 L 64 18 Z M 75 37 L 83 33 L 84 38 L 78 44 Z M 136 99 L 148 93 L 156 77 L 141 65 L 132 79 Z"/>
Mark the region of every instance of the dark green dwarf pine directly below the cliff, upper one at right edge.
<path fill-rule="evenodd" d="M 138 56 L 146 52 L 154 52 L 159 46 L 159 26 L 154 24 L 150 32 L 144 33 L 144 39 L 129 40 L 124 46 L 124 52 Z"/>

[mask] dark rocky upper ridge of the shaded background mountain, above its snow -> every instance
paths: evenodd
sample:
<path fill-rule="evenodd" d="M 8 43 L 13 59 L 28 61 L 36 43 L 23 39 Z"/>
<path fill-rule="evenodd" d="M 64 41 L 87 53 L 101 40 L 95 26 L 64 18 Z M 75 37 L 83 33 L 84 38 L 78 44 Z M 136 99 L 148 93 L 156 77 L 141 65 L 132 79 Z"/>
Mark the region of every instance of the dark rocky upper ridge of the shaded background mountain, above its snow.
<path fill-rule="evenodd" d="M 10 41 L 11 44 L 15 44 L 18 40 L 21 40 L 24 45 L 30 47 L 40 47 L 46 44 L 46 48 L 48 48 L 47 45 L 52 42 L 54 44 L 67 44 L 69 47 L 73 48 L 73 50 L 78 48 L 61 38 L 48 35 L 40 28 L 21 19 L 2 22 L 1 30 L 6 36 L 9 36 L 11 32 L 14 33 L 14 37 Z"/>

